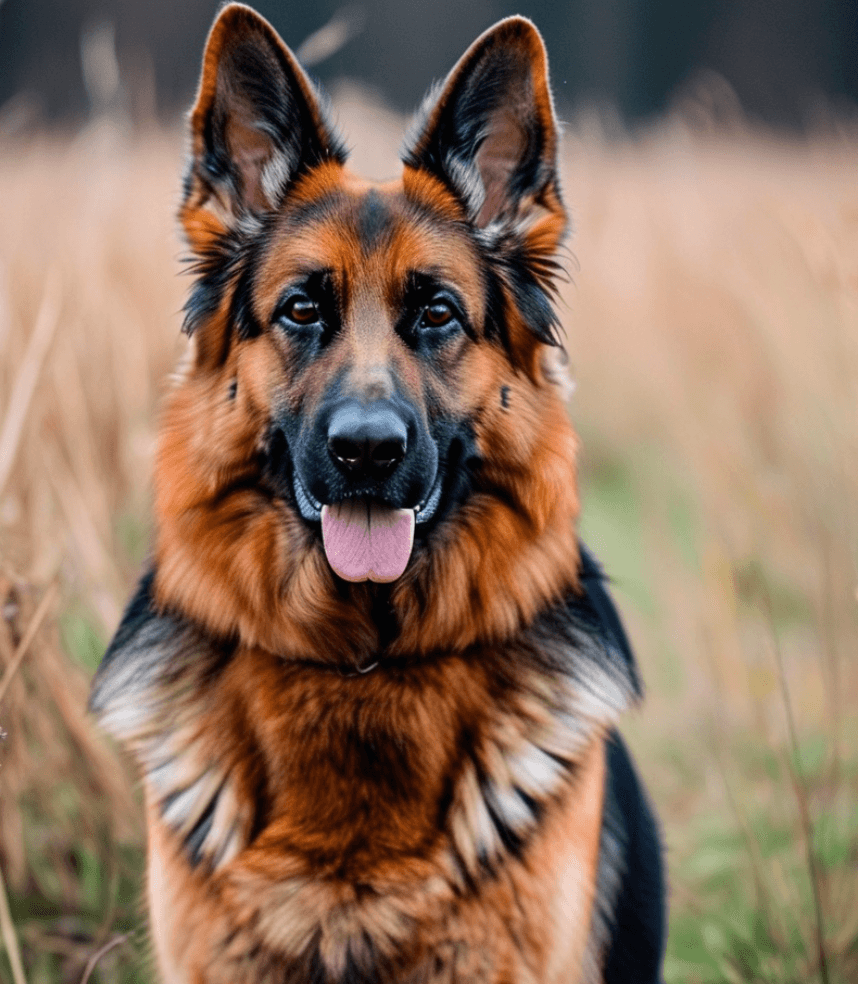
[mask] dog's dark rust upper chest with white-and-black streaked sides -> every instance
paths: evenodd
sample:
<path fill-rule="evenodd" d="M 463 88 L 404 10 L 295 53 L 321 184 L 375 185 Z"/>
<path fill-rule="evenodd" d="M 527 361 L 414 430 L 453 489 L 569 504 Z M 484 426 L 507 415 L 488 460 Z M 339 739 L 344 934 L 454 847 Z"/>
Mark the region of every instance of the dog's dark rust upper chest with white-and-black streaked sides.
<path fill-rule="evenodd" d="M 203 845 L 192 864 L 222 869 L 231 831 L 303 877 L 372 886 L 402 869 L 410 883 L 440 864 L 462 889 L 521 853 L 615 713 L 505 654 L 344 675 L 248 653 L 208 703 L 206 743 L 179 756 L 201 778 L 172 791 L 186 768 L 150 772 L 168 825 Z"/>

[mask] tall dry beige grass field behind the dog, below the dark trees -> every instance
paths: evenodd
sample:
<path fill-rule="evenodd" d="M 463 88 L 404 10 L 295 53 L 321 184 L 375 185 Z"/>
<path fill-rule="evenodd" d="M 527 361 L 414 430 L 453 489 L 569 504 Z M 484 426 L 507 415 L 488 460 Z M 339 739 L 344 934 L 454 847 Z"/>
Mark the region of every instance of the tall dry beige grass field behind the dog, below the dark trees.
<path fill-rule="evenodd" d="M 394 173 L 402 122 L 338 106 L 357 169 Z M 581 120 L 565 154 L 584 530 L 649 682 L 629 732 L 668 844 L 668 980 L 854 980 L 858 140 Z M 0 144 L 0 675 L 60 595 L 0 706 L 30 984 L 141 979 L 108 952 L 137 939 L 136 791 L 84 702 L 146 551 L 180 166 L 155 129 Z"/>

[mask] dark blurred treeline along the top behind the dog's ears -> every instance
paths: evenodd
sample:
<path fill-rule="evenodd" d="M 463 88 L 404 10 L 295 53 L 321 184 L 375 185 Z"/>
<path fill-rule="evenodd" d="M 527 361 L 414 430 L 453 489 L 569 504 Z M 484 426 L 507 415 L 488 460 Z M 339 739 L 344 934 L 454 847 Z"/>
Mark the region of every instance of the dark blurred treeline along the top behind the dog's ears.
<path fill-rule="evenodd" d="M 302 41 L 340 13 L 357 31 L 313 66 L 349 76 L 401 109 L 415 106 L 496 19 L 532 17 L 564 107 L 597 102 L 629 120 L 670 105 L 696 78 L 722 77 L 745 112 L 802 127 L 820 107 L 858 102 L 856 0 L 255 0 L 285 40 Z M 218 0 L 0 0 L 0 114 L 27 101 L 47 121 L 80 119 L 93 101 L 82 38 L 106 25 L 128 93 L 149 93 L 169 118 L 193 93 Z M 112 32 L 111 33 L 111 29 Z M 712 73 L 717 73 L 713 76 Z M 15 100 L 13 97 L 18 97 Z M 9 100 L 13 100 L 9 103 Z"/>

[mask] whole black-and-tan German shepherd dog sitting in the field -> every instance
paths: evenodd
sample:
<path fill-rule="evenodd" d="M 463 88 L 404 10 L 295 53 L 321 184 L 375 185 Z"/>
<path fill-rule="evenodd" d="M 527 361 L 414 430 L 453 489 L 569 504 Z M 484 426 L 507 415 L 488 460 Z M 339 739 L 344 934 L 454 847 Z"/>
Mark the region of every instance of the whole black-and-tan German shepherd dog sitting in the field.
<path fill-rule="evenodd" d="M 144 777 L 167 984 L 661 976 L 640 694 L 576 534 L 545 49 L 513 17 L 364 181 L 273 28 L 217 17 L 190 354 L 92 708 Z"/>

